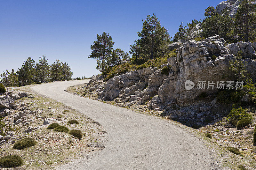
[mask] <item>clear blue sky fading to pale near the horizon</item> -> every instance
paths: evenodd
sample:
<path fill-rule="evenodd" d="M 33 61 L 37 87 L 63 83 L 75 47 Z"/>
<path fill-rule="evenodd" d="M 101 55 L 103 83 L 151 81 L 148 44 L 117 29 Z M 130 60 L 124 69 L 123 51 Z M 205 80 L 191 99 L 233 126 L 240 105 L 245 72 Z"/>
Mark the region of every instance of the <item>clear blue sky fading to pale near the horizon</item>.
<path fill-rule="evenodd" d="M 113 48 L 129 52 L 142 19 L 153 13 L 173 36 L 183 25 L 204 18 L 221 0 L 0 0 L 0 73 L 17 70 L 28 57 L 36 62 L 67 62 L 73 77 L 99 74 L 90 46 L 96 34 L 109 33 Z"/>

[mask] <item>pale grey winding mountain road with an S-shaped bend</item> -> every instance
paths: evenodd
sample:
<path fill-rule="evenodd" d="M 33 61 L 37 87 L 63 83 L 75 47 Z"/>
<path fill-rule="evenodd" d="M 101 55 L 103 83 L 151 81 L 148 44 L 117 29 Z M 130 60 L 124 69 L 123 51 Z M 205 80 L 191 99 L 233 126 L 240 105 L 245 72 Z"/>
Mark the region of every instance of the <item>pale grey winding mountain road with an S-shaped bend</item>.
<path fill-rule="evenodd" d="M 52 82 L 31 87 L 35 92 L 91 117 L 108 133 L 96 157 L 65 169 L 212 169 L 213 159 L 202 141 L 175 123 L 130 109 L 67 93 L 67 87 L 88 80 Z"/>

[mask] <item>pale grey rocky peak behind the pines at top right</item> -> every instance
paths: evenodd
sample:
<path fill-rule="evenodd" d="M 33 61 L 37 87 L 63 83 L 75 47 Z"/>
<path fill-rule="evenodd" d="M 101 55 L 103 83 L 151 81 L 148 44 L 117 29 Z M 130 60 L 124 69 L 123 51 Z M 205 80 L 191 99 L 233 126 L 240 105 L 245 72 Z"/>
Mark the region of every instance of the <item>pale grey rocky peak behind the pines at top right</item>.
<path fill-rule="evenodd" d="M 256 1 L 254 0 L 252 4 L 256 4 Z M 225 8 L 230 10 L 230 16 L 234 17 L 237 13 L 237 9 L 239 8 L 239 0 L 222 1 L 220 4 L 216 6 L 217 13 L 222 14 L 222 11 Z"/>

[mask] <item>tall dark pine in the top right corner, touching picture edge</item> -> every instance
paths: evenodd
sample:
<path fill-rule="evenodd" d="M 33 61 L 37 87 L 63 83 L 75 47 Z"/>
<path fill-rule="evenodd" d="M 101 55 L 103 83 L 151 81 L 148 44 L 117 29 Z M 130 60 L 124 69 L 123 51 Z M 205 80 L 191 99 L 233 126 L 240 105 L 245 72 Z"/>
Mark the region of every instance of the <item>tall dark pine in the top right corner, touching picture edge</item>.
<path fill-rule="evenodd" d="M 235 16 L 235 29 L 233 36 L 238 41 L 249 41 L 255 39 L 256 10 L 252 0 L 240 1 Z"/>

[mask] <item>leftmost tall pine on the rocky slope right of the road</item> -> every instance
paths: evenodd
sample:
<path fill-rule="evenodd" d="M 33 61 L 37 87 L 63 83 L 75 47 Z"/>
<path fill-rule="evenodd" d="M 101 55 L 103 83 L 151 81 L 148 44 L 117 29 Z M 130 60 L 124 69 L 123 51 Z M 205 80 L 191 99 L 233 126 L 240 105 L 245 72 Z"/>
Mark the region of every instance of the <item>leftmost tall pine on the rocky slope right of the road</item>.
<path fill-rule="evenodd" d="M 105 60 L 112 54 L 112 47 L 115 42 L 112 41 L 112 38 L 109 34 L 103 32 L 102 35 L 97 34 L 97 41 L 93 42 L 91 45 L 92 53 L 89 58 L 97 58 L 97 69 L 105 68 Z"/>

